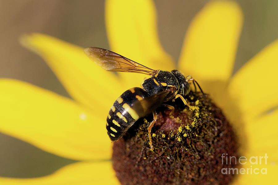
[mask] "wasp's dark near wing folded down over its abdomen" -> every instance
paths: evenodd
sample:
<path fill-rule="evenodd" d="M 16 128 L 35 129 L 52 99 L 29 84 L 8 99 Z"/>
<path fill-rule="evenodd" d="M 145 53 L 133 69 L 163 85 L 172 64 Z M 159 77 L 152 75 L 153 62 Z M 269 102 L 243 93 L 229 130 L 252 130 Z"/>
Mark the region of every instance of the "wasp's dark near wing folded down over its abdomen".
<path fill-rule="evenodd" d="M 133 103 L 133 109 L 136 111 L 139 117 L 146 116 L 152 111 L 157 109 L 165 100 L 165 98 L 171 93 L 170 89 L 158 92 L 155 95 L 148 96 L 139 101 Z"/>

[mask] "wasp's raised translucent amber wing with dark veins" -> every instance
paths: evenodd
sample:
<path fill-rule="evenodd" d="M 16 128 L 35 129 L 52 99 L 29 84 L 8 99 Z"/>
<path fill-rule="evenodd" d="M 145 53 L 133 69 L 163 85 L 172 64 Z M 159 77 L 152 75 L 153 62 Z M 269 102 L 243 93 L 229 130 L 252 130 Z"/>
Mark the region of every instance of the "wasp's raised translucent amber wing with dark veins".
<path fill-rule="evenodd" d="M 148 75 L 154 75 L 158 72 L 158 70 L 150 69 L 106 49 L 90 47 L 86 48 L 84 51 L 90 58 L 93 58 L 93 61 L 97 65 L 107 71 L 142 73 Z"/>

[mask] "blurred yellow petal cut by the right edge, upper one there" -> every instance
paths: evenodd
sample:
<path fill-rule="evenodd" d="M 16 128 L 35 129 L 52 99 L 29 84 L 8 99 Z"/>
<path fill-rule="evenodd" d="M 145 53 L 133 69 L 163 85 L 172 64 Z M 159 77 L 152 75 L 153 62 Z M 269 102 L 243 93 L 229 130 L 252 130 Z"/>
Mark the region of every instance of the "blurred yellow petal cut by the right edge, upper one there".
<path fill-rule="evenodd" d="M 230 101 L 238 105 L 244 121 L 278 105 L 277 61 L 278 40 L 253 57 L 231 79 Z"/>

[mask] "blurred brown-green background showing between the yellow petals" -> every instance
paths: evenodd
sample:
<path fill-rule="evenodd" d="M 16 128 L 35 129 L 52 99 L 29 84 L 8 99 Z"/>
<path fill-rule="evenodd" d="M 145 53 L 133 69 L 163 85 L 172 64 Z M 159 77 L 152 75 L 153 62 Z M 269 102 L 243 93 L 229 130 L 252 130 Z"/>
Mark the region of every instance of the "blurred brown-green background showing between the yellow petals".
<path fill-rule="evenodd" d="M 208 1 L 154 2 L 161 43 L 177 61 L 191 19 Z M 244 25 L 234 72 L 278 38 L 277 0 L 238 0 L 238 3 L 243 10 Z M 104 1 L 98 0 L 0 0 L 0 30 L 0 77 L 23 80 L 67 97 L 45 62 L 19 45 L 19 36 L 40 32 L 84 48 L 109 48 Z M 0 176 L 38 177 L 72 162 L 0 132 Z"/>

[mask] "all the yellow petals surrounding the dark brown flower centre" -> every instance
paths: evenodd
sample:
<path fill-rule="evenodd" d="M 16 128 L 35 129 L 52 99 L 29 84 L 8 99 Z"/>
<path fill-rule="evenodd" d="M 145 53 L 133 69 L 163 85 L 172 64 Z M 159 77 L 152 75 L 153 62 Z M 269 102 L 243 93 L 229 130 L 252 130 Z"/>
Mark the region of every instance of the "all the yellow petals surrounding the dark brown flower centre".
<path fill-rule="evenodd" d="M 151 1 L 107 1 L 108 39 L 116 53 L 153 69 L 172 70 L 176 67 L 158 40 L 154 9 Z M 278 40 L 231 77 L 241 26 L 237 3 L 209 2 L 188 28 L 178 68 L 198 79 L 223 109 L 238 133 L 243 156 L 267 153 L 267 164 L 247 161 L 242 166 L 267 168 L 267 174 L 239 174 L 234 183 L 272 183 L 278 172 Z M 30 34 L 23 36 L 22 43 L 45 59 L 73 100 L 25 82 L 1 79 L 0 131 L 80 162 L 45 177 L 1 177 L 0 183 L 119 184 L 109 161 L 111 142 L 104 122 L 114 100 L 144 76 L 104 71 L 86 57 L 83 48 L 50 36 Z"/>

